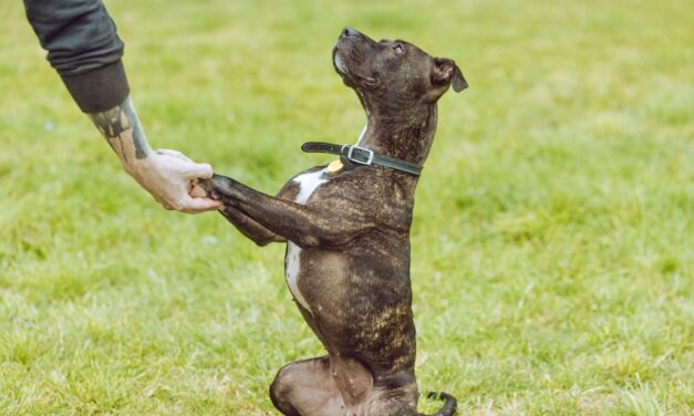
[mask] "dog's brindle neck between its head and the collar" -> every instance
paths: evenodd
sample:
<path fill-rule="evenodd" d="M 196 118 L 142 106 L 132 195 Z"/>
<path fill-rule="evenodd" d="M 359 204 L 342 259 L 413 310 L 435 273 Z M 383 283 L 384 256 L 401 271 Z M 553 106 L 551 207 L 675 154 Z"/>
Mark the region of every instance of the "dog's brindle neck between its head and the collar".
<path fill-rule="evenodd" d="M 380 155 L 424 165 L 436 134 L 436 103 L 373 110 L 364 105 L 366 127 L 359 145 Z"/>

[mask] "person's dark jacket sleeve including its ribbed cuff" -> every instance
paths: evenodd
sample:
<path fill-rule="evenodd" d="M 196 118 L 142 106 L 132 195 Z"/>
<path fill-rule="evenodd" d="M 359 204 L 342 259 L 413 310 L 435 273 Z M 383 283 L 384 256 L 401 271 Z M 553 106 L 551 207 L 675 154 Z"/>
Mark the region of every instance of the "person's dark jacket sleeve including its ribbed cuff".
<path fill-rule="evenodd" d="M 101 0 L 24 0 L 24 8 L 49 62 L 83 112 L 127 98 L 123 41 Z"/>

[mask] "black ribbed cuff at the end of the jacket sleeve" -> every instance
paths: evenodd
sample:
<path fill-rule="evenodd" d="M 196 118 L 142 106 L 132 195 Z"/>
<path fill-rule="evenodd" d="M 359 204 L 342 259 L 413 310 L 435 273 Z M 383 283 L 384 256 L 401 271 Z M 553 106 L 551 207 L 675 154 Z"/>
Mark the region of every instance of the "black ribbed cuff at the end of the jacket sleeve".
<path fill-rule="evenodd" d="M 84 113 L 101 113 L 113 108 L 122 104 L 131 93 L 123 62 L 120 60 L 84 74 L 61 77 Z"/>

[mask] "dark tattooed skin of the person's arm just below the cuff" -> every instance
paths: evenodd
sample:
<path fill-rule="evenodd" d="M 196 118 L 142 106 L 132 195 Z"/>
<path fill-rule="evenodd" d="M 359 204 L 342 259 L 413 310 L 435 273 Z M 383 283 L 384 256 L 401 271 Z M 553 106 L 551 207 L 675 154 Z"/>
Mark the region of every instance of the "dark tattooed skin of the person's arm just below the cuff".
<path fill-rule="evenodd" d="M 123 162 L 128 162 L 133 156 L 144 159 L 149 154 L 147 138 L 130 97 L 121 105 L 105 112 L 90 113 L 89 116 Z"/>

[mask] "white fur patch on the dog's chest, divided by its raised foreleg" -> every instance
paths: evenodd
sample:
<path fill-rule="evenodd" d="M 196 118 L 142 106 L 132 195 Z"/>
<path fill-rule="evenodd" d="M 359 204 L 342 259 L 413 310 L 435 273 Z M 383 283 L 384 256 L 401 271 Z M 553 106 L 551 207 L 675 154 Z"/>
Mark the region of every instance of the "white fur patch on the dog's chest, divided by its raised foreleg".
<path fill-rule="evenodd" d="M 315 188 L 327 183 L 325 169 L 317 170 L 310 174 L 303 174 L 297 176 L 293 179 L 299 184 L 299 194 L 294 198 L 294 202 L 304 205 Z M 287 261 L 284 263 L 284 277 L 287 278 L 287 284 L 289 291 L 293 294 L 297 302 L 301 304 L 305 310 L 311 312 L 309 303 L 305 301 L 301 291 L 299 290 L 299 278 L 301 275 L 301 248 L 292 241 L 287 241 Z"/>

